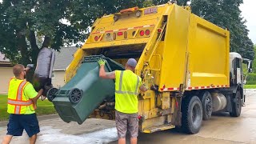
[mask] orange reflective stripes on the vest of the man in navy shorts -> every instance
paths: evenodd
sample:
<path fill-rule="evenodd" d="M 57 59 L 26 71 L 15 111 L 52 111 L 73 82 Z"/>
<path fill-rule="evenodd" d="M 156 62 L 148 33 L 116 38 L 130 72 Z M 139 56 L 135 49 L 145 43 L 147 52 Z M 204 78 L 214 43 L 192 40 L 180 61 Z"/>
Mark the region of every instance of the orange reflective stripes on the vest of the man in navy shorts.
<path fill-rule="evenodd" d="M 8 98 L 8 104 L 15 106 L 14 114 L 21 114 L 22 106 L 30 106 L 31 104 L 33 104 L 31 100 L 22 101 L 23 88 L 24 86 L 26 86 L 26 83 L 26 81 L 23 81 L 19 84 L 16 99 Z"/>

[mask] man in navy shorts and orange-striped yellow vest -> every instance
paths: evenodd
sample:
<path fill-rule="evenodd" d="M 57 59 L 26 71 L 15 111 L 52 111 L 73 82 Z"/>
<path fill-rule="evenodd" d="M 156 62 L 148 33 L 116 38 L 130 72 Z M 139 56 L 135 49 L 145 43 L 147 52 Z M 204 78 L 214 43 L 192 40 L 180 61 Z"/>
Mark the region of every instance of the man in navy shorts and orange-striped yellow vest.
<path fill-rule="evenodd" d="M 7 134 L 2 143 L 10 143 L 13 136 L 21 136 L 23 130 L 30 137 L 30 144 L 35 143 L 37 134 L 40 132 L 38 118 L 34 110 L 35 103 L 42 95 L 42 89 L 36 92 L 30 82 L 26 82 L 26 71 L 32 68 L 31 65 L 25 67 L 21 64 L 13 67 L 14 78 L 10 79 L 8 89 L 7 112 L 10 114 L 7 125 Z"/>

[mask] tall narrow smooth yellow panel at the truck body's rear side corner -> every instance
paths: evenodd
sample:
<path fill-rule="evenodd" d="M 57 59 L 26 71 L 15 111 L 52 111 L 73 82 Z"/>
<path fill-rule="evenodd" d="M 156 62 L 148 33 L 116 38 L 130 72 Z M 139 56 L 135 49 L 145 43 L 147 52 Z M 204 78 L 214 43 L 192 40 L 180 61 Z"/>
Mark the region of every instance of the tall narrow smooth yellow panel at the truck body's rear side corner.
<path fill-rule="evenodd" d="M 159 89 L 179 87 L 185 78 L 190 12 L 174 5 L 167 19 Z"/>

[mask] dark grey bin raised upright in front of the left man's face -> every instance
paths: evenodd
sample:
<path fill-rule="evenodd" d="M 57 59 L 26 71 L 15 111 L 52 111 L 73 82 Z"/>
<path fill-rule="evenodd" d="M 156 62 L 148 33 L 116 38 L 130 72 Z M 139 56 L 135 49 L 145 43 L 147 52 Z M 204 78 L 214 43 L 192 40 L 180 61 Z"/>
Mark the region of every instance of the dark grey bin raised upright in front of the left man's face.
<path fill-rule="evenodd" d="M 52 88 L 51 75 L 54 67 L 55 53 L 46 47 L 38 54 L 37 66 L 34 70 L 34 89 L 44 89 L 43 96 Z"/>

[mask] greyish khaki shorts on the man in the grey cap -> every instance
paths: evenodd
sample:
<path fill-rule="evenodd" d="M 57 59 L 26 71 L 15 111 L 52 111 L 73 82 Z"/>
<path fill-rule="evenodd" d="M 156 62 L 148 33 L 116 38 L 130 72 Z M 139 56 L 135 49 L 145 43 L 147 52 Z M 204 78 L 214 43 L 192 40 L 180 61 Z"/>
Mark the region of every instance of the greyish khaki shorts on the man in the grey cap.
<path fill-rule="evenodd" d="M 138 113 L 125 114 L 115 110 L 115 123 L 118 130 L 118 138 L 126 138 L 126 132 L 130 138 L 138 137 Z"/>

